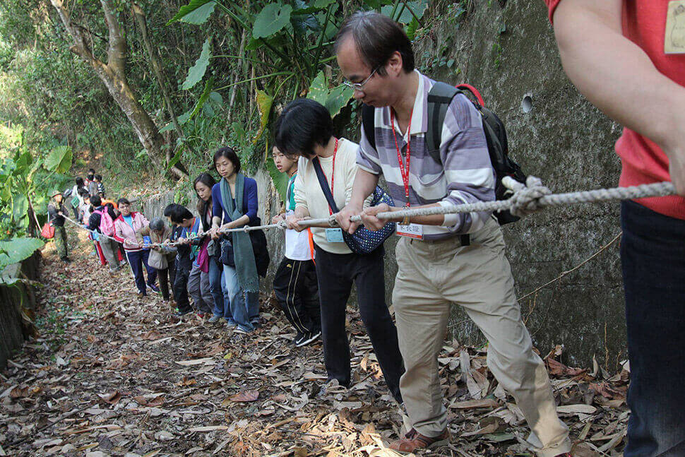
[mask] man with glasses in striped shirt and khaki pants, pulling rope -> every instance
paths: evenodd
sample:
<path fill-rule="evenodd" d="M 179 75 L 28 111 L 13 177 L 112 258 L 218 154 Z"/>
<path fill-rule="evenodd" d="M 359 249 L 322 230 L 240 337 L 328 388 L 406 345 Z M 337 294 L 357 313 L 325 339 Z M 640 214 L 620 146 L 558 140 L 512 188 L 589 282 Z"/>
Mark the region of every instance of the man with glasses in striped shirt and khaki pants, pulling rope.
<path fill-rule="evenodd" d="M 340 28 L 335 54 L 355 99 L 375 107 L 374 129 L 362 129 L 350 203 L 336 218 L 343 230 L 354 232 L 359 224 L 350 216 L 362 211 L 364 225 L 376 230 L 386 222 L 375 217 L 379 212 L 494 200 L 482 118 L 465 95 L 455 95 L 448 105 L 436 131 L 439 162 L 431 157 L 427 98 L 435 81 L 415 70 L 412 44 L 397 23 L 374 12 L 356 13 Z M 395 206 L 364 209 L 381 174 Z M 398 225 L 398 235 L 408 236 L 395 251 L 393 307 L 406 368 L 400 389 L 413 428 L 391 448 L 413 452 L 449 440 L 437 356 L 451 305 L 458 304 L 489 341 L 488 368 L 516 399 L 532 430 L 532 447 L 543 457 L 566 455 L 568 428 L 556 415 L 547 371 L 521 320 L 504 238 L 492 213 L 407 219 Z"/>

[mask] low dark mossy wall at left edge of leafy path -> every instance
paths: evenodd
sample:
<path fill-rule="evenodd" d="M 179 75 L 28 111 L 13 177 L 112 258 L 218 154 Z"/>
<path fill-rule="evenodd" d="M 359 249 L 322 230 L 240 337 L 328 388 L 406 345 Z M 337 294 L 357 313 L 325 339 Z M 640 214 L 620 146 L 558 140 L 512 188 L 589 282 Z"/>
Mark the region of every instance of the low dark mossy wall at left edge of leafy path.
<path fill-rule="evenodd" d="M 4 369 L 7 360 L 12 357 L 15 350 L 21 348 L 24 339 L 28 336 L 27 328 L 23 325 L 20 308 L 27 310 L 35 309 L 35 293 L 32 286 L 21 281 L 11 285 L 16 278 L 28 278 L 37 280 L 38 261 L 40 253 L 35 252 L 32 256 L 21 263 L 7 266 L 2 271 L 3 283 L 0 283 L 0 369 Z"/>

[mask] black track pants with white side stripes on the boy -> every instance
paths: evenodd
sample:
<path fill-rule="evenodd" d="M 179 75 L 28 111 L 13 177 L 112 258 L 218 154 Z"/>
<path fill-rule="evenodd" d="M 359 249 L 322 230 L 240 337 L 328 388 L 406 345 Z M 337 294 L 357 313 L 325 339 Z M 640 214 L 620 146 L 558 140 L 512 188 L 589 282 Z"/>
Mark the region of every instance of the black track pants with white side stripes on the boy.
<path fill-rule="evenodd" d="M 297 333 L 321 331 L 321 304 L 314 261 L 283 257 L 273 278 L 273 292 L 285 319 Z"/>

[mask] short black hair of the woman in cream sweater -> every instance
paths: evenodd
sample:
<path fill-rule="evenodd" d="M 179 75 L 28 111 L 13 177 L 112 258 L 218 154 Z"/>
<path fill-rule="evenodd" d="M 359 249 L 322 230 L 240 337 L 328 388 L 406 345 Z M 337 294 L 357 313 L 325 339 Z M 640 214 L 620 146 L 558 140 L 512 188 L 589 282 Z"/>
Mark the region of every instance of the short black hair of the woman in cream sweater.
<path fill-rule="evenodd" d="M 326 147 L 333 136 L 328 109 L 309 98 L 288 103 L 273 125 L 276 147 L 285 154 L 310 157 L 314 146 Z"/>

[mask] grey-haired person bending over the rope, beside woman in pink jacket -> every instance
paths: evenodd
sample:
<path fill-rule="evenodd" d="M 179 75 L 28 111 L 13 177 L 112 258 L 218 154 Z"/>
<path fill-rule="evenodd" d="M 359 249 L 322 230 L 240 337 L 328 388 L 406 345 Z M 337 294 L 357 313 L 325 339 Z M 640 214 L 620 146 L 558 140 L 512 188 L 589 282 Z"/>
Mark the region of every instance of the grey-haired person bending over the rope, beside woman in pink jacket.
<path fill-rule="evenodd" d="M 136 230 L 136 238 L 138 238 L 138 244 L 141 245 L 143 244 L 143 237 L 150 237 L 151 244 L 167 244 L 170 241 L 171 235 L 172 230 L 162 218 L 153 218 L 153 220 L 150 220 L 150 225 Z M 174 273 L 176 271 L 176 251 L 176 247 L 173 246 L 153 246 L 150 247 L 150 255 L 148 256 L 148 265 L 157 271 L 162 299 L 165 302 L 169 302 L 171 298 L 169 296 L 169 277 L 172 278 L 173 285 Z"/>

